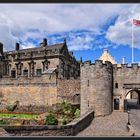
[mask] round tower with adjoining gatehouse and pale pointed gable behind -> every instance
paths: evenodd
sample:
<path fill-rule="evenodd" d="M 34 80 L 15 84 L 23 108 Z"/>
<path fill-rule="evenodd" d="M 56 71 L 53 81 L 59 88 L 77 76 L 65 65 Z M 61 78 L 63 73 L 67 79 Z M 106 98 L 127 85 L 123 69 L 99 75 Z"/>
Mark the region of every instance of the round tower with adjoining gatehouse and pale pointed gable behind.
<path fill-rule="evenodd" d="M 96 116 L 127 111 L 132 99 L 137 99 L 135 108 L 140 107 L 140 66 L 137 63 L 118 67 L 105 50 L 95 63 L 81 64 L 80 77 L 81 114 L 89 109 L 94 109 Z"/>

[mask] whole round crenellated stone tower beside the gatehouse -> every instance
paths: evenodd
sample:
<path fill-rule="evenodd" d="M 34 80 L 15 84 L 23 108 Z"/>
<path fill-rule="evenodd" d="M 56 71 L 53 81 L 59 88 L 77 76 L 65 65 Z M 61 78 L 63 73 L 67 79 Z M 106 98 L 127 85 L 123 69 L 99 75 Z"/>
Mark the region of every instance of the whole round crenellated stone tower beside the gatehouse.
<path fill-rule="evenodd" d="M 95 116 L 112 112 L 113 68 L 108 61 L 101 60 L 81 65 L 81 113 L 89 108 L 95 110 Z"/>

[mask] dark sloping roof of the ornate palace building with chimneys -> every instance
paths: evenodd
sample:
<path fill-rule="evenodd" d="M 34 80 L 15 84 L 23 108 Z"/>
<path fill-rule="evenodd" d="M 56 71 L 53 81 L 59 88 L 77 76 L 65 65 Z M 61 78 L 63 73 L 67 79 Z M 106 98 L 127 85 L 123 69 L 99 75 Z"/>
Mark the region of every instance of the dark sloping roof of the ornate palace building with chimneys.
<path fill-rule="evenodd" d="M 64 43 L 60 43 L 60 44 L 54 44 L 54 45 L 48 45 L 45 47 L 46 50 L 55 50 L 55 49 L 62 49 L 64 46 Z M 41 51 L 44 50 L 44 47 L 36 47 L 36 48 L 28 48 L 28 49 L 21 49 L 18 52 L 31 52 L 31 51 Z M 14 53 L 16 52 L 16 50 L 12 50 L 12 51 L 7 51 L 5 53 Z"/>

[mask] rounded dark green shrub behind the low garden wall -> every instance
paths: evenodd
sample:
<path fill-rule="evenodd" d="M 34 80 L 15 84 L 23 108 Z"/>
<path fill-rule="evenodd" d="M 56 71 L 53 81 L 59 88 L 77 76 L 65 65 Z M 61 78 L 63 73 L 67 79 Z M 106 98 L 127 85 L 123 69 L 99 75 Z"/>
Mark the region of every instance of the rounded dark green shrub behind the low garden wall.
<path fill-rule="evenodd" d="M 58 120 L 56 119 L 56 117 L 53 114 L 49 114 L 46 116 L 46 124 L 47 125 L 57 125 Z"/>

